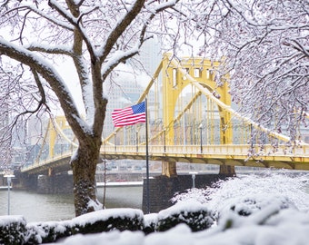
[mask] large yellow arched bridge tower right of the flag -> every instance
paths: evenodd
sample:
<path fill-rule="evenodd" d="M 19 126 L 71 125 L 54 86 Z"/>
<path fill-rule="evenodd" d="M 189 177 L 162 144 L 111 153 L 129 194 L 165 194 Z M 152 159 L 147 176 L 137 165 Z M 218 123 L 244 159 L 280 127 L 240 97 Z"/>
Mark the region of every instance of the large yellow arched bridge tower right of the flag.
<path fill-rule="evenodd" d="M 166 130 L 166 144 L 174 143 L 174 127 L 169 127 L 173 122 L 175 106 L 180 94 L 187 85 L 198 82 L 210 93 L 215 94 L 221 102 L 231 105 L 231 95 L 228 93 L 227 79 L 224 79 L 221 86 L 214 81 L 216 68 L 219 62 L 213 62 L 202 57 L 187 57 L 177 63 L 174 62 L 170 54 L 164 54 L 162 63 L 163 75 L 163 98 L 164 98 L 164 128 Z M 227 77 L 225 77 L 227 78 Z M 201 96 L 202 93 L 197 94 Z M 231 121 L 231 113 L 223 110 L 218 105 L 220 116 L 220 142 L 221 144 L 232 143 L 233 132 Z M 229 127 L 226 125 L 229 124 Z M 175 162 L 163 162 L 162 174 L 168 177 L 177 175 Z"/>

